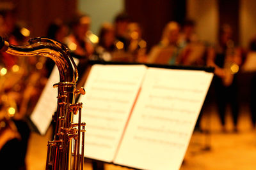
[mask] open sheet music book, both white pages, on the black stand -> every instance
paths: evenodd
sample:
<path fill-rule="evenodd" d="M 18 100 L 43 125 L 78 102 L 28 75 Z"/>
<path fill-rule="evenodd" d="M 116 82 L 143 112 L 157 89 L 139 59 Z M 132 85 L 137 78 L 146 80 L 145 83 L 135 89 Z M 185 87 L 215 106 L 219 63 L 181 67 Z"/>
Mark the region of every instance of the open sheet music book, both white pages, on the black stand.
<path fill-rule="evenodd" d="M 84 85 L 85 156 L 137 169 L 179 169 L 213 73 L 92 66 Z"/>

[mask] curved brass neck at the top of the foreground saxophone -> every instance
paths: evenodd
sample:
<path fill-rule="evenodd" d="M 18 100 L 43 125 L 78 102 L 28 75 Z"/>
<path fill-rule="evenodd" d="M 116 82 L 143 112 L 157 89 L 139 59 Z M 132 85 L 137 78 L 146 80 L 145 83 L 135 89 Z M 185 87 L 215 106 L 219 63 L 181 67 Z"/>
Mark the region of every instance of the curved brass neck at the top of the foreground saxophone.
<path fill-rule="evenodd" d="M 77 67 L 72 59 L 68 48 L 48 38 L 29 39 L 26 46 L 10 45 L 0 37 L 0 51 L 17 56 L 44 56 L 51 58 L 60 71 L 61 83 L 76 83 L 78 79 Z"/>

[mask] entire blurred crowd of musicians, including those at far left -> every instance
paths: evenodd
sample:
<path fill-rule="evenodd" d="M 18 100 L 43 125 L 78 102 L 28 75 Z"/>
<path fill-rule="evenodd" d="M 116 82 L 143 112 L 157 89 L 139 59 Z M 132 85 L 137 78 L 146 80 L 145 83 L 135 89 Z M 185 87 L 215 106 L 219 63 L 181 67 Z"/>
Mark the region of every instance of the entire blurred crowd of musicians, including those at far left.
<path fill-rule="evenodd" d="M 80 75 L 85 74 L 89 60 L 214 67 L 212 85 L 223 131 L 226 131 L 225 117 L 228 103 L 231 106 L 234 131 L 238 131 L 237 73 L 241 69 L 255 71 L 253 61 L 256 60 L 253 59 L 256 39 L 252 39 L 247 49 L 241 48 L 232 37 L 232 27 L 223 25 L 218 43 L 209 45 L 198 38 L 195 32 L 196 23 L 193 20 L 186 20 L 184 23 L 171 21 L 164 27 L 161 41 L 148 49 L 140 23 L 133 22 L 126 13 L 116 15 L 113 23 L 103 23 L 99 36 L 90 31 L 90 24 L 90 16 L 77 14 L 68 23 L 61 20 L 52 22 L 46 35 L 47 38 L 65 44 L 72 56 L 79 59 Z M 0 11 L 0 36 L 13 45 L 22 46 L 27 45 L 30 31 L 26 28 L 26 24 L 17 22 L 12 11 Z M 26 150 L 29 138 L 29 127 L 24 123 L 24 119 L 35 106 L 53 66 L 54 62 L 44 57 L 19 58 L 0 53 L 1 120 L 7 124 L 12 118 L 16 126 L 12 123 L 4 126 L 1 123 L 0 128 L 12 130 L 13 142 L 17 142 L 15 140 L 20 138 L 24 139 L 24 142 L 19 143 L 22 145 L 19 148 L 25 148 L 23 150 Z M 252 80 L 254 85 L 255 78 Z M 254 94 L 256 91 L 252 89 L 253 127 L 256 124 Z M 199 122 L 197 125 L 200 127 Z M 9 137 L 6 140 L 10 140 Z M 0 152 L 4 150 L 3 145 L 4 142 L 0 143 Z M 24 162 L 20 162 L 20 165 L 24 166 Z"/>

